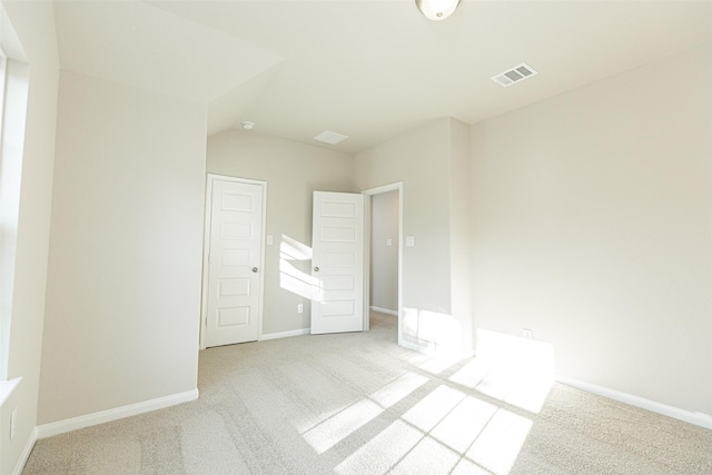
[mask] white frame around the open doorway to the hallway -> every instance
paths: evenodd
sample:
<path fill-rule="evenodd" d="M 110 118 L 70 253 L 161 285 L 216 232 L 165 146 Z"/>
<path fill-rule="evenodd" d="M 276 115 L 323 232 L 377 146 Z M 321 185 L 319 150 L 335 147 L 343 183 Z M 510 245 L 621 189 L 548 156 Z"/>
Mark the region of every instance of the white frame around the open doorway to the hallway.
<path fill-rule="evenodd" d="M 370 313 L 370 197 L 389 191 L 398 191 L 398 345 L 403 346 L 403 181 L 362 191 L 366 196 L 364 236 L 367 238 L 364 239 L 364 268 L 368 269 L 364 273 L 364 330 L 369 328 Z"/>

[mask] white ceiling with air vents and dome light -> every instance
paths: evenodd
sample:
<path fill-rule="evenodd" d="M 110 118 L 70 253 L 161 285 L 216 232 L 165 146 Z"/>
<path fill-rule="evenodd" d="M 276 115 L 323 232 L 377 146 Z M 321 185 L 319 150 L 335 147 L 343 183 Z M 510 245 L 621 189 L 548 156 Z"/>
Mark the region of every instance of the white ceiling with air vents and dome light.
<path fill-rule="evenodd" d="M 709 1 L 463 0 L 431 22 L 413 0 L 55 2 L 63 69 L 200 101 L 208 133 L 345 152 L 439 117 L 467 123 L 712 38 Z M 490 78 L 526 62 L 508 88 Z"/>

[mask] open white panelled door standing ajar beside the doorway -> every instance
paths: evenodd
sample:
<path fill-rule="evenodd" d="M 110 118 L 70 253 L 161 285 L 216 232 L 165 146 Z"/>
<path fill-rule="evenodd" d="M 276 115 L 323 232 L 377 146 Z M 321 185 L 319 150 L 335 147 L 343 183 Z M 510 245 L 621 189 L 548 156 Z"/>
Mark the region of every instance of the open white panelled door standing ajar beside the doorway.
<path fill-rule="evenodd" d="M 312 333 L 364 329 L 364 196 L 314 192 Z"/>

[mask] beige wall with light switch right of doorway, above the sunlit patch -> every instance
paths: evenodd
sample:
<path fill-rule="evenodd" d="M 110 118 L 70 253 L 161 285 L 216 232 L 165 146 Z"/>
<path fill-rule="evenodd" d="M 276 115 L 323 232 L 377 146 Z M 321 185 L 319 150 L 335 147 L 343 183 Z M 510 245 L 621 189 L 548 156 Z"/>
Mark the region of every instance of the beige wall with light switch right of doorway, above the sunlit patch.
<path fill-rule="evenodd" d="M 447 161 L 449 120 L 441 119 L 356 155 L 359 190 L 403 181 L 402 306 L 448 314 L 449 253 Z"/>

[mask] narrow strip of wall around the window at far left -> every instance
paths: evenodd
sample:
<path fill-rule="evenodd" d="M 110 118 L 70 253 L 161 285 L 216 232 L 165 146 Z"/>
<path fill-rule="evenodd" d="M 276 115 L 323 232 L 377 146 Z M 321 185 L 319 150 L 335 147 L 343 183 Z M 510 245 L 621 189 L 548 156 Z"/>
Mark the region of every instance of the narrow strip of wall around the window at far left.
<path fill-rule="evenodd" d="M 8 355 L 8 377 L 22 382 L 0 415 L 0 473 L 9 474 L 29 455 L 37 425 L 59 73 L 52 4 L 3 2 L 3 7 L 31 66 Z M 6 429 L 13 408 L 17 431 L 10 441 Z"/>

